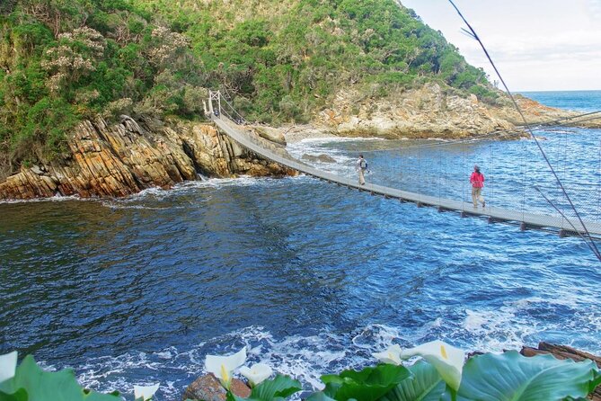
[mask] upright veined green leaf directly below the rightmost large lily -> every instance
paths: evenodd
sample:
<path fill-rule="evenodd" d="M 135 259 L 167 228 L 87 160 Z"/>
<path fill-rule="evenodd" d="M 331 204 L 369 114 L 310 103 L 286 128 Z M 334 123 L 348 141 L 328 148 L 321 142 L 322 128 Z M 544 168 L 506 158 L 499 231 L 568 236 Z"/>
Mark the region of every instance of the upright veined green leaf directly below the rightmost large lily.
<path fill-rule="evenodd" d="M 438 401 L 446 389 L 445 380 L 427 361 L 417 361 L 409 370 L 412 377 L 381 398 L 381 401 Z"/>

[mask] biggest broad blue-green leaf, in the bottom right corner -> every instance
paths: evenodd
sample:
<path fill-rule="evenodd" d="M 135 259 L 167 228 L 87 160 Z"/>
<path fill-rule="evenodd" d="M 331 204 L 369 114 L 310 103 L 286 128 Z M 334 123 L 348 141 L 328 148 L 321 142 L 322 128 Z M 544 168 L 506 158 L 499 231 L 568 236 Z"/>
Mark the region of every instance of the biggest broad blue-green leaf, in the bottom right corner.
<path fill-rule="evenodd" d="M 526 358 L 515 351 L 473 357 L 464 366 L 458 399 L 554 401 L 586 397 L 597 378 L 592 361 L 559 361 L 551 355 Z"/>

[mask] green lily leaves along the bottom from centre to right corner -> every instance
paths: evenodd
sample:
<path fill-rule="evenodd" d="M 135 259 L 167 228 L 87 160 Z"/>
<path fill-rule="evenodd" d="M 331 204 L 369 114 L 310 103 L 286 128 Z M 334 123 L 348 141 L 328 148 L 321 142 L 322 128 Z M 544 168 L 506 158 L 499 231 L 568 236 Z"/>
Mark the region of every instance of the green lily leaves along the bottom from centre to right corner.
<path fill-rule="evenodd" d="M 517 352 L 474 356 L 463 368 L 461 386 L 455 390 L 444 374 L 428 361 L 409 367 L 379 364 L 364 370 L 344 370 L 322 376 L 325 388 L 307 401 L 498 401 L 585 400 L 601 382 L 593 361 L 559 361 L 551 355 L 526 358 Z M 279 377 L 278 377 L 279 378 Z M 276 379 L 278 379 L 276 378 Z M 257 388 L 272 386 L 266 380 Z M 281 393 L 297 391 L 280 388 Z M 264 397 L 257 397 L 258 394 Z M 255 391 L 248 401 L 281 401 L 283 396 Z M 228 401 L 244 401 L 228 392 Z"/>

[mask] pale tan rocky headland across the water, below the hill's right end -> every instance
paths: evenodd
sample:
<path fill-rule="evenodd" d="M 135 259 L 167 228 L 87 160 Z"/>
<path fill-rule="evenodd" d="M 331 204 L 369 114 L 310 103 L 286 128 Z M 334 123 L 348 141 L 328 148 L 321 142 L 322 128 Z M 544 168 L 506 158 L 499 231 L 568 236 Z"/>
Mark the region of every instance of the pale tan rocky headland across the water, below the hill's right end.
<path fill-rule="evenodd" d="M 578 115 L 543 106 L 517 96 L 529 123 Z M 323 126 L 349 137 L 381 138 L 465 138 L 495 130 L 511 130 L 522 125 L 521 117 L 508 99 L 491 106 L 476 95 L 461 97 L 437 84 L 399 90 L 386 97 L 366 97 L 353 89 L 340 91 L 330 108 L 316 118 Z M 583 126 L 595 126 L 591 121 Z"/>

